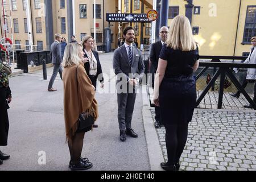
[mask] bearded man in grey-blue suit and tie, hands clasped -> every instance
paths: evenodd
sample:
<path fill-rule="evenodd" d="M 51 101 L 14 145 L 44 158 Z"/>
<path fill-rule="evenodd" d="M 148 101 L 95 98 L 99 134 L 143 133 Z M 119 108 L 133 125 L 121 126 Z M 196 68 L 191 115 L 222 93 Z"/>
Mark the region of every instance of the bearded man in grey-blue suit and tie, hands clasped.
<path fill-rule="evenodd" d="M 126 135 L 133 138 L 138 137 L 134 130 L 131 129 L 131 119 L 133 117 L 136 89 L 145 67 L 141 51 L 133 46 L 134 28 L 126 27 L 123 30 L 123 37 L 125 38 L 125 43 L 115 49 L 114 52 L 113 69 L 115 75 L 117 75 L 119 139 L 125 142 Z"/>

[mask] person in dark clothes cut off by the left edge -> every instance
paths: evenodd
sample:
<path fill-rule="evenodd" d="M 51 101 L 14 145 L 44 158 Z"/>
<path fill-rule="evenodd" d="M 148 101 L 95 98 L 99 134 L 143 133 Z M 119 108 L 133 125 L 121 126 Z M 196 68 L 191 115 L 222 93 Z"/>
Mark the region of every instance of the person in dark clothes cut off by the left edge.
<path fill-rule="evenodd" d="M 0 60 L 1 61 L 1 60 Z M 9 88 L 9 79 L 3 69 L 2 61 L 0 63 L 0 146 L 7 146 L 7 138 L 9 131 L 9 118 L 7 109 L 11 102 L 11 90 Z M 3 160 L 9 159 L 10 155 L 3 154 L 0 151 L 0 164 Z"/>

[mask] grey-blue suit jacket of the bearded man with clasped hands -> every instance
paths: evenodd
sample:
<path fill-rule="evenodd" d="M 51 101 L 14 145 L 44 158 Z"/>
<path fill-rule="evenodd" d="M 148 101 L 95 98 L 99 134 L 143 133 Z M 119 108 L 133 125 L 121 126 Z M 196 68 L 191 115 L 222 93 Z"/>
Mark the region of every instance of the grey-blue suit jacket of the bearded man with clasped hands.
<path fill-rule="evenodd" d="M 115 49 L 113 57 L 113 69 L 115 75 L 121 74 L 124 76 L 123 74 L 125 74 L 127 81 L 129 78 L 140 79 L 145 71 L 141 51 L 133 46 L 133 62 L 130 65 L 125 45 L 123 44 L 123 46 Z M 117 83 L 119 81 L 121 80 L 118 80 Z"/>

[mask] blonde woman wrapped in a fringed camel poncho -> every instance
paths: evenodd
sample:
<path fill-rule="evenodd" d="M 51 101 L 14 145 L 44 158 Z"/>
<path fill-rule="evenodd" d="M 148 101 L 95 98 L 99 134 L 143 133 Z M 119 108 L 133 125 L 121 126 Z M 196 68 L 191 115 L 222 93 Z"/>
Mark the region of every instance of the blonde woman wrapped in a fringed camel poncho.
<path fill-rule="evenodd" d="M 92 130 L 92 127 L 78 130 L 77 120 L 79 119 L 79 114 L 83 111 L 89 112 L 95 121 L 98 117 L 97 101 L 94 99 L 94 86 L 86 75 L 84 63 L 82 45 L 79 43 L 68 44 L 65 47 L 63 57 L 64 118 L 66 137 L 71 155 L 69 168 L 72 170 L 92 167 L 92 163 L 89 162 L 88 158 L 81 158 L 84 134 Z"/>

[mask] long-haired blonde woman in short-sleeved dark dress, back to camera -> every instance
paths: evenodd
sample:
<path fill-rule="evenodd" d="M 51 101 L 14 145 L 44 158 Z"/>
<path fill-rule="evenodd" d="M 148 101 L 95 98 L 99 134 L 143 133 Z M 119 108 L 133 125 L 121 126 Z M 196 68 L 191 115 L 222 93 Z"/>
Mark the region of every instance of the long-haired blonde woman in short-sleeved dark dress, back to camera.
<path fill-rule="evenodd" d="M 185 16 L 176 16 L 169 32 L 159 56 L 154 103 L 160 106 L 166 128 L 168 162 L 160 165 L 164 170 L 176 171 L 180 167 L 188 123 L 196 106 L 196 78 L 193 73 L 199 65 L 199 51 Z"/>

